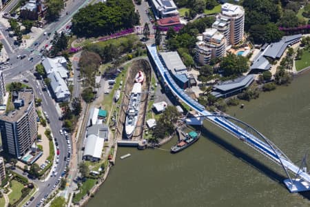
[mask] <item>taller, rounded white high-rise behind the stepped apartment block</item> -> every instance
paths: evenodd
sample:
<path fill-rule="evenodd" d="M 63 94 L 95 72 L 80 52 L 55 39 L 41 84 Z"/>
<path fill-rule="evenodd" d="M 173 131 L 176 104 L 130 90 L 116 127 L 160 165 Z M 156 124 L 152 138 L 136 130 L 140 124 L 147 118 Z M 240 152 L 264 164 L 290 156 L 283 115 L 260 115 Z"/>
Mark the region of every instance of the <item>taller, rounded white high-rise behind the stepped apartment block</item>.
<path fill-rule="evenodd" d="M 225 26 L 225 22 L 229 22 L 229 43 L 232 46 L 240 43 L 245 31 L 245 10 L 242 6 L 224 3 L 212 27 L 218 29 L 220 22 L 222 23 L 221 26 L 223 30 L 225 30 L 225 32 L 223 32 L 225 37 L 227 36 L 227 26 Z"/>

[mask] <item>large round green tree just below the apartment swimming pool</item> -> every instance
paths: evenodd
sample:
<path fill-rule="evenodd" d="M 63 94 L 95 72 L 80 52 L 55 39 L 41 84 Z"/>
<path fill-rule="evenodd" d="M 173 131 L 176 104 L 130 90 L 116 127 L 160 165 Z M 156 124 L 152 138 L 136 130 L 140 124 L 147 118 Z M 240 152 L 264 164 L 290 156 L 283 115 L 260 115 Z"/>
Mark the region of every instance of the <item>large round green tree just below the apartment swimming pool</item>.
<path fill-rule="evenodd" d="M 225 77 L 234 75 L 241 75 L 242 72 L 247 72 L 249 70 L 249 65 L 247 64 L 247 58 L 240 55 L 229 54 L 223 57 L 220 62 L 220 69 L 223 70 L 223 75 Z"/>

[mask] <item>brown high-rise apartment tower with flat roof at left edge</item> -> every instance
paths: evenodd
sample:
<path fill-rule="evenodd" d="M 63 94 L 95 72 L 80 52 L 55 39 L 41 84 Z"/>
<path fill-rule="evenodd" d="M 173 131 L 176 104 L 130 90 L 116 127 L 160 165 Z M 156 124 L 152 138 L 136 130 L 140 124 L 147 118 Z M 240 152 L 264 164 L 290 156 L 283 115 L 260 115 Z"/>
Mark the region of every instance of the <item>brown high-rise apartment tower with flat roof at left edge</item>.
<path fill-rule="evenodd" d="M 20 158 L 37 138 L 37 114 L 32 90 L 19 90 L 14 108 L 0 116 L 1 139 L 4 152 Z"/>

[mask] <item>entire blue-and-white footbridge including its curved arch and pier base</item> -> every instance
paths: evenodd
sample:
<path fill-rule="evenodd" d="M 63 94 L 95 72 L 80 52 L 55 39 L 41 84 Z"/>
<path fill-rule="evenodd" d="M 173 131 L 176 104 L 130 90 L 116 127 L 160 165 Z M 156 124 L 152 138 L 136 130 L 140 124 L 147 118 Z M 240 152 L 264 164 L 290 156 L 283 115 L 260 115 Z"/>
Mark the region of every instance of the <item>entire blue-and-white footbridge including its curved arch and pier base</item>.
<path fill-rule="evenodd" d="M 275 144 L 258 132 L 258 130 L 249 126 L 249 124 L 234 117 L 230 117 L 229 115 L 212 113 L 205 110 L 204 106 L 189 97 L 178 87 L 167 68 L 163 65 L 161 57 L 157 53 L 156 46 L 147 46 L 147 51 L 149 59 L 155 67 L 156 74 L 161 77 L 162 83 L 165 84 L 165 86 L 169 88 L 169 90 L 171 90 L 180 101 L 183 101 L 187 106 L 198 113 L 198 117 L 187 119 L 188 124 L 202 124 L 203 119 L 211 121 L 216 124 L 216 126 L 229 132 L 231 135 L 240 139 L 251 148 L 254 148 L 262 155 L 265 155 L 265 157 L 271 159 L 271 161 L 282 166 L 289 178 L 285 179 L 284 183 L 291 193 L 310 190 L 310 175 L 306 168 L 300 168 L 296 164 L 293 164 L 293 162 Z M 240 127 L 240 125 L 256 132 L 256 135 L 253 135 L 249 130 Z M 292 172 L 296 177 L 292 179 L 288 171 Z"/>

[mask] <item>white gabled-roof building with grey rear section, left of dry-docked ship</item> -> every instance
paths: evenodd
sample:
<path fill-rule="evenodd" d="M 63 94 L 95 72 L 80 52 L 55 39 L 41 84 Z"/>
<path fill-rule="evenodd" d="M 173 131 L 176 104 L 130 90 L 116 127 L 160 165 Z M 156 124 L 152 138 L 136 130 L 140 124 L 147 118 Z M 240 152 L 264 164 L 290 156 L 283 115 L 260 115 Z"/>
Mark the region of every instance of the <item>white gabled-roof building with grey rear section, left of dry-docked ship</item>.
<path fill-rule="evenodd" d="M 87 128 L 87 138 L 83 153 L 83 159 L 98 161 L 105 140 L 108 140 L 109 128 L 105 124 L 95 124 Z"/>

